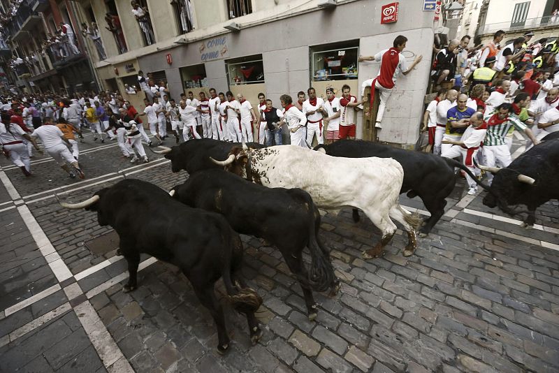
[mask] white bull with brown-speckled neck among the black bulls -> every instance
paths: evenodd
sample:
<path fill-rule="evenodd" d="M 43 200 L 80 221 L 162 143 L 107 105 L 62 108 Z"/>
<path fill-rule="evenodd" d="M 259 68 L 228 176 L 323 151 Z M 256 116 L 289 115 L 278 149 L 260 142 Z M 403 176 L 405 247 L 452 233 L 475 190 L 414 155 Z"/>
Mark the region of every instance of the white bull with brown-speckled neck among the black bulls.
<path fill-rule="evenodd" d="M 382 255 L 396 231 L 393 217 L 405 227 L 409 237 L 404 255 L 414 254 L 415 228 L 421 219 L 398 204 L 404 171 L 394 159 L 342 158 L 281 145 L 264 149 L 235 147 L 225 161 L 212 161 L 264 186 L 303 189 L 318 207 L 326 210 L 344 206 L 363 210 L 382 231 L 382 240 L 375 248 L 363 251 L 364 258 Z"/>

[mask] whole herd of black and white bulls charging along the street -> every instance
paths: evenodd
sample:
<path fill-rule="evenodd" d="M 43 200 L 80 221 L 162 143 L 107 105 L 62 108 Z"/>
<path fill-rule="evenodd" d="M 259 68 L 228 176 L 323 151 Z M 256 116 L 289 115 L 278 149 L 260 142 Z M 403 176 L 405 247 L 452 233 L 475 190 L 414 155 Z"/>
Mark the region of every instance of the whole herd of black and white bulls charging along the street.
<path fill-rule="evenodd" d="M 352 140 L 312 151 L 202 139 L 157 152 L 170 159 L 174 173 L 189 173 L 184 184 L 167 192 L 148 182 L 123 180 L 82 203 L 61 205 L 95 211 L 101 226 L 118 233 L 119 254 L 126 258 L 130 275 L 123 291 L 136 288 L 142 253 L 177 265 L 209 309 L 221 353 L 230 341 L 214 291 L 220 277 L 233 308 L 246 314 L 252 341 L 261 336 L 254 312 L 262 300 L 240 276 L 239 233 L 261 237 L 279 249 L 303 289 L 313 320 L 317 306 L 312 290 L 335 294 L 339 288 L 328 249 L 320 240 L 319 208 L 353 207 L 356 221 L 362 210 L 382 231 L 380 242 L 363 251 L 364 258 L 382 256 L 395 233 L 395 219 L 407 231 L 409 242 L 402 252 L 409 256 L 417 247 L 416 229 L 421 227 L 420 235 L 428 235 L 444 214 L 445 198 L 456 182 L 454 168 L 470 172 L 457 161 L 433 154 Z M 484 168 L 496 174 L 491 186 L 479 182 L 488 191 L 484 204 L 508 214 L 528 212 L 524 222 L 530 226 L 539 205 L 559 198 L 558 168 L 559 138 L 544 139 L 508 168 Z M 398 204 L 400 193 L 423 200 L 431 215 L 423 226 Z M 518 210 L 518 205 L 528 210 Z M 308 270 L 303 263 L 305 247 L 311 256 Z"/>

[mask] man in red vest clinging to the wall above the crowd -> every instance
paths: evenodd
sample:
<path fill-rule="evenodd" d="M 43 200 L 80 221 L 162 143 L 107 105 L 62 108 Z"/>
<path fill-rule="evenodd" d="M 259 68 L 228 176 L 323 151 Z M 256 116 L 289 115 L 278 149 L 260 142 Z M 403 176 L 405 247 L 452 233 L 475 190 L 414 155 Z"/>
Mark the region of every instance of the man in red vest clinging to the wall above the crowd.
<path fill-rule="evenodd" d="M 380 62 L 377 78 L 365 80 L 365 82 L 361 85 L 362 98 L 365 96 L 366 87 L 372 87 L 374 85 L 375 89 L 379 89 L 380 103 L 375 123 L 375 127 L 377 127 L 377 129 L 382 129 L 381 122 L 384 115 L 384 108 L 386 108 L 386 101 L 388 101 L 392 93 L 396 78 L 398 78 L 400 73 L 407 75 L 414 69 L 416 64 L 419 64 L 421 59 L 423 59 L 423 56 L 420 54 L 416 57 L 416 59 L 414 59 L 412 65 L 408 68 L 405 57 L 401 53 L 405 49 L 406 43 L 407 38 L 405 36 L 398 35 L 393 41 L 393 47 L 390 49 L 382 50 L 375 54 L 375 56 L 358 58 L 358 61 L 375 60 Z M 371 102 L 375 97 L 375 89 L 371 89 Z M 365 113 L 365 115 L 368 115 L 368 113 Z"/>

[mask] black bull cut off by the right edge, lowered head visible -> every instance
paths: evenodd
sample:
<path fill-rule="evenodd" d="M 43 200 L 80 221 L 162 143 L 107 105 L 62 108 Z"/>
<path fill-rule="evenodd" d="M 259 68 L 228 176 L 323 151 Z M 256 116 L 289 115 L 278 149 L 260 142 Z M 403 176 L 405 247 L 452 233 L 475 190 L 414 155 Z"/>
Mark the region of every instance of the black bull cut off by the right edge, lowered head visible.
<path fill-rule="evenodd" d="M 534 224 L 537 207 L 559 199 L 559 138 L 530 148 L 507 168 L 480 167 L 495 173 L 484 205 L 499 206 L 507 214 L 516 213 L 510 206 L 525 205 L 528 207 L 526 226 Z"/>

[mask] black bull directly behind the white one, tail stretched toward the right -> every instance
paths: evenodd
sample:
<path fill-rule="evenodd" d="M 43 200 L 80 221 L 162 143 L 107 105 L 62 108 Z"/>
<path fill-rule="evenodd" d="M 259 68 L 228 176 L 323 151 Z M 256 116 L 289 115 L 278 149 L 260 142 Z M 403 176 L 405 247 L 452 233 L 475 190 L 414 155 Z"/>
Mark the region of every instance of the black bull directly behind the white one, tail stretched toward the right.
<path fill-rule="evenodd" d="M 469 173 L 478 184 L 487 189 L 487 186 L 478 182 L 477 177 L 472 175 L 462 163 L 435 154 L 398 149 L 363 140 L 340 140 L 331 145 L 319 145 L 314 149 L 324 149 L 326 154 L 331 156 L 347 158 L 377 156 L 398 161 L 404 169 L 404 181 L 400 193 L 407 192 L 409 198 L 419 196 L 431 214 L 421 227 L 421 236 L 428 235 L 444 214 L 444 206 L 447 205 L 445 198 L 453 191 L 456 184 L 454 167 Z M 354 220 L 358 221 L 358 219 L 358 212 L 354 209 Z"/>

